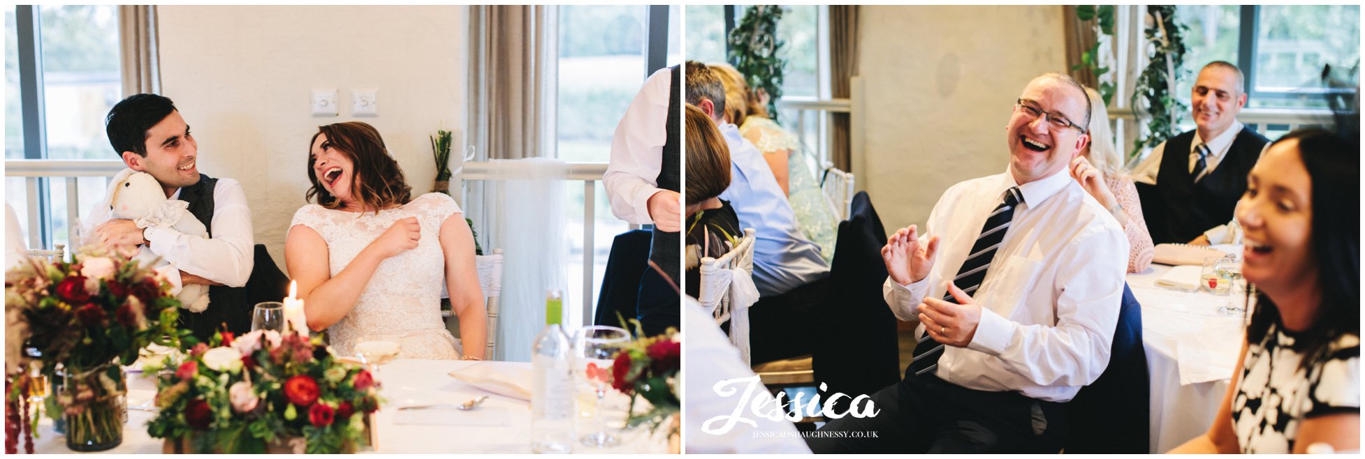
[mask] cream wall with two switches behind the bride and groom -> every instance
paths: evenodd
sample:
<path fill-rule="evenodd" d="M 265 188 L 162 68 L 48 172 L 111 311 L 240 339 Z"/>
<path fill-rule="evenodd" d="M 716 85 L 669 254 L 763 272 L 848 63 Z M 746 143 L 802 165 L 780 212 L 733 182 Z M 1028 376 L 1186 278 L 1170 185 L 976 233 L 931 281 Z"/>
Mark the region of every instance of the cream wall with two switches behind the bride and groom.
<path fill-rule="evenodd" d="M 317 127 L 379 129 L 414 196 L 431 191 L 427 139 L 463 139 L 465 7 L 161 5 L 162 94 L 199 140 L 199 170 L 242 181 L 257 244 L 284 270 L 284 236 L 308 189 Z M 340 91 L 340 116 L 314 117 L 314 87 Z M 378 90 L 378 117 L 351 116 L 351 90 Z M 456 148 L 459 154 L 459 148 Z"/>

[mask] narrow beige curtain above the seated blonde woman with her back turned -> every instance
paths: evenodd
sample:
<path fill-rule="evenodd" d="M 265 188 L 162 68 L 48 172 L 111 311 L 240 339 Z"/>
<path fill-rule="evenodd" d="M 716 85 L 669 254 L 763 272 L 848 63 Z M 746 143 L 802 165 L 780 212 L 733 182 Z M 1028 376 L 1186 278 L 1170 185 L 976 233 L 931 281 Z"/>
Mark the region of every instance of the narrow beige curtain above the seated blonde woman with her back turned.
<path fill-rule="evenodd" d="M 857 5 L 830 5 L 830 95 L 852 95 L 850 78 L 857 76 Z M 834 113 L 830 129 L 830 161 L 839 170 L 850 170 L 849 113 Z"/>

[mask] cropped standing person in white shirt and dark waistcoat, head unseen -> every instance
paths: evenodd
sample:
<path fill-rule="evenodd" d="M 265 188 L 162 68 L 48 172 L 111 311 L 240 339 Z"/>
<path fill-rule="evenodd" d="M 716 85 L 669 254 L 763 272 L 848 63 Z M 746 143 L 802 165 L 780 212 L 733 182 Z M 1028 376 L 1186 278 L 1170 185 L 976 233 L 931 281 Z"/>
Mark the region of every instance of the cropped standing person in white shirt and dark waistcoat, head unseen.
<path fill-rule="evenodd" d="M 654 225 L 650 260 L 672 279 L 646 268 L 640 276 L 636 317 L 648 335 L 677 328 L 680 251 L 682 247 L 682 118 L 677 101 L 678 65 L 644 82 L 612 135 L 612 161 L 602 174 L 612 214 L 633 225 Z M 670 283 L 673 286 L 670 286 Z"/>

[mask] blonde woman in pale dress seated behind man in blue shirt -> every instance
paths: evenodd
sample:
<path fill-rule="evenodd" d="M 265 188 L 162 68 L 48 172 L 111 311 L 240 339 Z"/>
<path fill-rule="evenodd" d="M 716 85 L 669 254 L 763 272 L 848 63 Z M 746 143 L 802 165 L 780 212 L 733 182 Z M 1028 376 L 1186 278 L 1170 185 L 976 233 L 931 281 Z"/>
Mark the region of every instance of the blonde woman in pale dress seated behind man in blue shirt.
<path fill-rule="evenodd" d="M 809 159 L 801 153 L 801 140 L 773 121 L 767 113 L 767 94 L 749 89 L 730 64 L 707 64 L 725 86 L 725 120 L 740 127 L 740 135 L 763 153 L 773 176 L 786 193 L 796 226 L 811 242 L 820 247 L 824 263 L 834 260 L 834 240 L 839 221 L 834 217 Z M 730 102 L 733 101 L 733 102 Z"/>

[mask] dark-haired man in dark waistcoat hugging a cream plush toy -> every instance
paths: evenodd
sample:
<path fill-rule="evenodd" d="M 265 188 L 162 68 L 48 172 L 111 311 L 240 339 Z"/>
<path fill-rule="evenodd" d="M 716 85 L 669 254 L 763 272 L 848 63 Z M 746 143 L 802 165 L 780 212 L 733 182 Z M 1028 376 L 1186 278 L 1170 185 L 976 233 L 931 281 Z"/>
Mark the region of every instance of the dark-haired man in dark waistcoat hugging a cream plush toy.
<path fill-rule="evenodd" d="M 233 332 L 248 331 L 253 305 L 240 287 L 251 276 L 255 242 L 242 184 L 199 173 L 199 144 L 169 98 L 135 94 L 115 104 L 105 118 L 105 132 L 128 169 L 152 174 L 168 199 L 190 203 L 190 212 L 207 227 L 209 237 L 109 219 L 108 203 L 100 203 L 86 219 L 86 225 L 94 226 L 86 233 L 86 244 L 147 245 L 175 267 L 167 276 L 176 289 L 186 283 L 209 285 L 209 308 L 180 315 L 182 326 L 201 341 L 224 326 Z"/>

